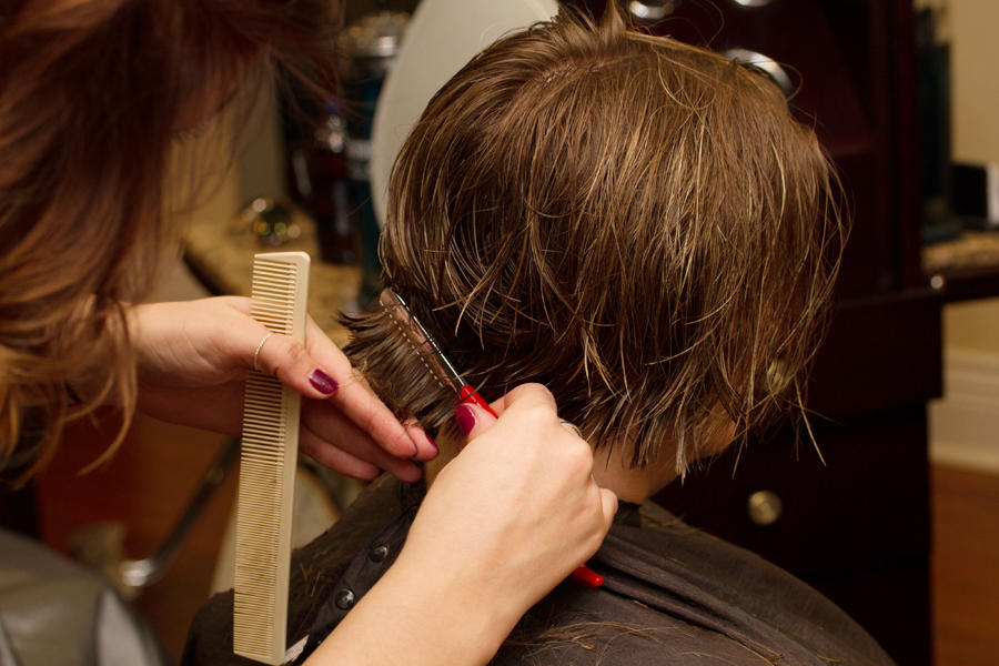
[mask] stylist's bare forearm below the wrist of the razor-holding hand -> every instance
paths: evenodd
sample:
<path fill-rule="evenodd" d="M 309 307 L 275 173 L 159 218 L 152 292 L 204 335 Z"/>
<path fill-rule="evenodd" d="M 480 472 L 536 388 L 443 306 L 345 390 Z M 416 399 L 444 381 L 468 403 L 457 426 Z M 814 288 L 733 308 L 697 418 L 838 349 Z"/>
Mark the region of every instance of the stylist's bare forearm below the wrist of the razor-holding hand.
<path fill-rule="evenodd" d="M 403 554 L 305 664 L 486 664 L 519 617 L 483 587 Z"/>

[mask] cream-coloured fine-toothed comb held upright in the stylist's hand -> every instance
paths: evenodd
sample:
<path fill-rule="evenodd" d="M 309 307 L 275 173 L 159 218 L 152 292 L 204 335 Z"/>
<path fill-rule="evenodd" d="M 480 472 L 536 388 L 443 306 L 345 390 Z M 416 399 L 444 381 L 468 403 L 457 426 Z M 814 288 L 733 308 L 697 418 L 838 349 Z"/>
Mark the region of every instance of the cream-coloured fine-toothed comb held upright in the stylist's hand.
<path fill-rule="evenodd" d="M 304 342 L 307 290 L 304 252 L 253 258 L 251 314 L 269 331 Z M 262 372 L 250 373 L 236 508 L 233 652 L 264 664 L 284 662 L 299 408 L 295 391 Z"/>

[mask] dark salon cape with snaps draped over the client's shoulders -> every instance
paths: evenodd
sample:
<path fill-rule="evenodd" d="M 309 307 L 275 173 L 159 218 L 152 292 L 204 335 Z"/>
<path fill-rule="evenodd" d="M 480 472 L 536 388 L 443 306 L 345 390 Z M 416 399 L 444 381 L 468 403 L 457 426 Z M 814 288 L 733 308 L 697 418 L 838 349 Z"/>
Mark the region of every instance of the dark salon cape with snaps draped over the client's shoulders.
<path fill-rule="evenodd" d="M 392 564 L 421 497 L 421 488 L 383 476 L 340 522 L 295 552 L 289 664 L 304 662 Z M 606 578 L 604 586 L 559 585 L 492 664 L 891 664 L 819 593 L 658 507 L 643 506 L 639 515 L 637 506 L 622 503 L 589 566 Z M 199 610 L 182 663 L 254 664 L 232 654 L 231 591 Z"/>

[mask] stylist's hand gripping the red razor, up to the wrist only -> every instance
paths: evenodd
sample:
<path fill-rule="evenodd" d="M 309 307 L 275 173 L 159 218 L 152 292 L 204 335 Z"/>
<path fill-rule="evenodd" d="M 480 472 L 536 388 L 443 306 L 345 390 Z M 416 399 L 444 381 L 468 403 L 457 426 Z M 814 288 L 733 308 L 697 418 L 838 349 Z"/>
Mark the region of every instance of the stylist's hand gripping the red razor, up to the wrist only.
<path fill-rule="evenodd" d="M 468 443 L 434 481 L 406 548 L 443 549 L 443 571 L 519 591 L 519 618 L 596 552 L 617 497 L 594 482 L 593 450 L 562 424 L 547 389 L 525 384 L 492 406 L 498 421 L 455 410 Z"/>

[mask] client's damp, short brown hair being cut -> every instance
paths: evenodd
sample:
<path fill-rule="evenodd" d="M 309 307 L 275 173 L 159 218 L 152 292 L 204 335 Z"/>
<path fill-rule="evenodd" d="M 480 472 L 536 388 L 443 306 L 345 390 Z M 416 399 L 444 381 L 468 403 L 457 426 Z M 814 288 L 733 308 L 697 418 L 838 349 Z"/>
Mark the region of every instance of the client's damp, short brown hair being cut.
<path fill-rule="evenodd" d="M 633 466 L 675 438 L 683 473 L 719 412 L 746 433 L 801 406 L 845 238 L 836 189 L 760 72 L 613 9 L 599 27 L 563 13 L 430 102 L 392 175 L 384 278 L 487 398 L 542 382 Z M 383 397 L 443 423 L 447 393 L 400 381 L 376 319 L 352 325 Z"/>

